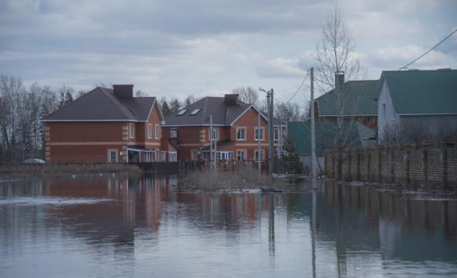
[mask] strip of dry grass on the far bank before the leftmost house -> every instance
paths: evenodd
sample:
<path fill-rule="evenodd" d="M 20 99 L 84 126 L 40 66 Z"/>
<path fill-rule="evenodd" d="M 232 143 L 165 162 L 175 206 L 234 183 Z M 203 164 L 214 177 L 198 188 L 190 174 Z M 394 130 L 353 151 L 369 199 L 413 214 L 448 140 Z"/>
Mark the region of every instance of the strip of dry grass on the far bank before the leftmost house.
<path fill-rule="evenodd" d="M 141 173 L 137 165 L 121 163 L 46 163 L 0 165 L 0 177 L 46 177 L 97 173 Z"/>

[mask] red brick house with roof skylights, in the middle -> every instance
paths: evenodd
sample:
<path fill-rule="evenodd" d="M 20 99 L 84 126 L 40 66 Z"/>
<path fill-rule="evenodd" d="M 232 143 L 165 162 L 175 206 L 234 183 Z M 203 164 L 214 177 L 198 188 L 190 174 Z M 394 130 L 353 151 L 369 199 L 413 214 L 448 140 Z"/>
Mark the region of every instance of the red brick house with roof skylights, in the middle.
<path fill-rule="evenodd" d="M 166 115 L 162 125 L 163 136 L 179 148 L 181 160 L 209 160 L 210 115 L 216 138 L 217 158 L 221 160 L 255 160 L 257 155 L 256 130 L 261 114 L 261 158 L 268 157 L 268 118 L 254 106 L 238 100 L 238 95 L 206 97 Z M 276 132 L 277 147 L 279 133 Z M 276 148 L 275 147 L 275 148 Z"/>

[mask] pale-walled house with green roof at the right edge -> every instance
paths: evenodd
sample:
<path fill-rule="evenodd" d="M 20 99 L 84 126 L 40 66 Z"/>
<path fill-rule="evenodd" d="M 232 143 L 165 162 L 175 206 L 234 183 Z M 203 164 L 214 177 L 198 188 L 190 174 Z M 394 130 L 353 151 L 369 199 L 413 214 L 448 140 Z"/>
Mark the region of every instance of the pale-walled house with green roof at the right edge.
<path fill-rule="evenodd" d="M 383 71 L 377 91 L 379 143 L 457 132 L 457 70 Z"/>

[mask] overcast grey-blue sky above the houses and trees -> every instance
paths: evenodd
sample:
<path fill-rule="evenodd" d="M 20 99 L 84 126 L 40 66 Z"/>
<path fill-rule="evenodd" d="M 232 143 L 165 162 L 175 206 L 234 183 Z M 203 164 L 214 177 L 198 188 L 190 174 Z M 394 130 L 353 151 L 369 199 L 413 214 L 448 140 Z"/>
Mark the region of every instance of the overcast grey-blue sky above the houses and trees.
<path fill-rule="evenodd" d="M 334 1 L 0 0 L 0 74 L 89 91 L 133 83 L 150 96 L 298 88 Z M 367 77 L 398 69 L 457 29 L 455 0 L 339 5 Z M 411 68 L 457 68 L 457 34 Z M 301 101 L 301 93 L 294 101 Z"/>

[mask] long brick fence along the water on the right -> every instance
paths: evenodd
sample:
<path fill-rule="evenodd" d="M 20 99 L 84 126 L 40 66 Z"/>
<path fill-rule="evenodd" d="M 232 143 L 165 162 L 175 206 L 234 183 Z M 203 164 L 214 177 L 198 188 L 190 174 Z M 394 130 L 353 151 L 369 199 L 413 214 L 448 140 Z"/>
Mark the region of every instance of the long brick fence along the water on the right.
<path fill-rule="evenodd" d="M 455 147 L 454 138 L 445 138 L 438 149 L 432 140 L 423 140 L 420 146 L 405 143 L 344 150 L 343 180 L 457 186 Z M 336 177 L 338 151 L 325 150 L 324 164 L 326 175 Z"/>

